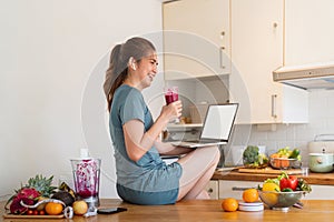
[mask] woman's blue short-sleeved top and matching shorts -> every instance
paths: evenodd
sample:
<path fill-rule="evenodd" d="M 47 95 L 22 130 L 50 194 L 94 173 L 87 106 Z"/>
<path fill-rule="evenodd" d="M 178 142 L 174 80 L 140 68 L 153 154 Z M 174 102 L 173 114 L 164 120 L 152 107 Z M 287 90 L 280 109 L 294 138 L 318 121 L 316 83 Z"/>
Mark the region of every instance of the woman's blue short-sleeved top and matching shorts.
<path fill-rule="evenodd" d="M 145 132 L 154 123 L 141 92 L 122 84 L 114 94 L 109 120 L 118 194 L 125 201 L 137 204 L 175 203 L 181 175 L 180 164 L 175 162 L 167 165 L 155 147 L 137 162 L 127 154 L 122 125 L 135 119 L 144 123 Z"/>

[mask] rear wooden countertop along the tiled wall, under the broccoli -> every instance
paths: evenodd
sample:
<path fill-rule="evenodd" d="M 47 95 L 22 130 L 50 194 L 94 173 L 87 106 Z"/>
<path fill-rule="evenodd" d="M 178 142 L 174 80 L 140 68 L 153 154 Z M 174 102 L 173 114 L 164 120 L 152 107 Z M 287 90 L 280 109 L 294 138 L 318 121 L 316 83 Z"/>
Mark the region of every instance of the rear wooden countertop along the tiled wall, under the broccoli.
<path fill-rule="evenodd" d="M 276 178 L 277 174 L 265 174 L 265 173 L 240 173 L 238 170 L 232 171 L 216 171 L 213 175 L 213 180 L 235 180 L 235 181 L 257 181 L 263 182 L 267 178 Z M 298 178 L 303 178 L 310 184 L 317 185 L 334 185 L 334 173 L 308 173 L 307 176 L 296 174 Z"/>

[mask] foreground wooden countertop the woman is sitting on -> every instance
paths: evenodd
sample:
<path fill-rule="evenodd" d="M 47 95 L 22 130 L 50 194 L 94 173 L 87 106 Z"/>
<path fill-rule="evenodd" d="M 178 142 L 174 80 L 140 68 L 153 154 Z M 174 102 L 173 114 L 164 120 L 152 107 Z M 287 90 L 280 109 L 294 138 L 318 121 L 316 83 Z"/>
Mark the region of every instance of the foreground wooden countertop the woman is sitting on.
<path fill-rule="evenodd" d="M 173 205 L 134 205 L 124 203 L 120 200 L 101 200 L 102 208 L 122 206 L 128 211 L 109 215 L 96 215 L 90 218 L 75 216 L 73 222 L 107 222 L 107 221 L 294 221 L 294 222 L 307 222 L 307 221 L 332 221 L 334 218 L 334 200 L 304 200 L 304 208 L 296 209 L 291 208 L 288 212 L 274 211 L 265 208 L 259 212 L 224 212 L 220 208 L 222 200 L 194 200 L 183 201 Z M 3 222 L 32 222 L 33 219 L 3 219 L 3 205 L 0 203 L 0 213 Z M 68 222 L 67 219 L 48 219 L 41 221 L 52 222 Z"/>

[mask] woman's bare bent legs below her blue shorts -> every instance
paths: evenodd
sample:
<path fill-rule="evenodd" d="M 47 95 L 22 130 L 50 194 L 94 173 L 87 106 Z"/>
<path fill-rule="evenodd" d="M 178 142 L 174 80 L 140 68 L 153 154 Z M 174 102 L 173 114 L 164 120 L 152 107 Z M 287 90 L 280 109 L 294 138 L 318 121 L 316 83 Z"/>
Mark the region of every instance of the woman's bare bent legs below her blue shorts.
<path fill-rule="evenodd" d="M 204 190 L 219 162 L 218 147 L 199 148 L 188 153 L 178 162 L 183 167 L 179 182 L 178 201 L 181 199 L 208 199 Z"/>

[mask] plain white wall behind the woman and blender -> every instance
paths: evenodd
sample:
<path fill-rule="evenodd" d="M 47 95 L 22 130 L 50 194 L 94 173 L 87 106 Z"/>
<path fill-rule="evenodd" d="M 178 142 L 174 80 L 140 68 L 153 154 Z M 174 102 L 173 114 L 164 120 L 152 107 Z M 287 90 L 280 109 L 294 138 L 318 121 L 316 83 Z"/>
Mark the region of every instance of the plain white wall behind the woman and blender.
<path fill-rule="evenodd" d="M 56 184 L 71 180 L 69 159 L 86 147 L 102 159 L 101 196 L 117 196 L 104 72 L 111 47 L 130 36 L 153 32 L 160 47 L 160 7 L 159 0 L 2 2 L 0 199 L 37 173 L 55 175 Z M 146 95 L 157 95 L 161 83 L 158 77 Z M 157 109 L 159 99 L 147 99 Z"/>

